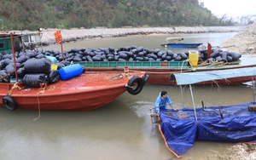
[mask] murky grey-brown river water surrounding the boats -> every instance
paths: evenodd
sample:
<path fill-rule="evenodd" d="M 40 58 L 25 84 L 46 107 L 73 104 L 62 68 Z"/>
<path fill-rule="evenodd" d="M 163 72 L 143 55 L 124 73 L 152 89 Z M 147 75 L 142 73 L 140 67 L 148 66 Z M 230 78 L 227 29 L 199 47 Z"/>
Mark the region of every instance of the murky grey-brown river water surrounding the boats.
<path fill-rule="evenodd" d="M 236 33 L 187 34 L 192 42 L 219 45 Z M 63 49 L 99 48 L 136 45 L 161 49 L 170 35 L 115 37 L 76 43 L 64 43 Z M 60 49 L 60 45 L 48 46 Z M 177 50 L 177 52 L 179 52 Z M 168 151 L 158 128 L 151 124 L 149 108 L 161 90 L 166 90 L 174 107 L 183 107 L 177 86 L 146 85 L 138 95 L 120 95 L 110 104 L 94 111 L 7 111 L 0 108 L 0 159 L 177 159 Z M 218 106 L 253 100 L 250 86 L 195 86 L 195 104 Z M 183 90 L 184 104 L 192 106 L 189 89 Z M 75 105 L 75 104 L 74 104 Z M 227 151 L 235 144 L 201 142 L 185 153 L 182 159 L 219 159 L 232 155 Z"/>

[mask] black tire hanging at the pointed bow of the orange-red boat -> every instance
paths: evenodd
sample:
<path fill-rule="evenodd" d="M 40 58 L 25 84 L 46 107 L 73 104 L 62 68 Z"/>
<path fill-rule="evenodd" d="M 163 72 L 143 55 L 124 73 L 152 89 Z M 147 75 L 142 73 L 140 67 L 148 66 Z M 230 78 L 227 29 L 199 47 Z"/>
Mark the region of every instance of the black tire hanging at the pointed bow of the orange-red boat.
<path fill-rule="evenodd" d="M 139 94 L 143 90 L 144 86 L 144 80 L 141 77 L 131 77 L 131 79 L 128 81 L 128 86 L 126 87 L 129 94 L 136 95 Z M 133 89 L 135 87 L 135 89 Z"/>

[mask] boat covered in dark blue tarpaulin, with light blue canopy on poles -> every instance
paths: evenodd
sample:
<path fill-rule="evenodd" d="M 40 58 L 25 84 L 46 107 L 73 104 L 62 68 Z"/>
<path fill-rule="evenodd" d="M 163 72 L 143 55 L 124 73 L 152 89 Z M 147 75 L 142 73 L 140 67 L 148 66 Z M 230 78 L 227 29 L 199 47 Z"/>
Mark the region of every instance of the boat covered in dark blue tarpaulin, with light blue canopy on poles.
<path fill-rule="evenodd" d="M 237 75 L 236 72 L 240 74 Z M 189 77 L 187 77 L 188 75 Z M 193 96 L 191 84 L 240 76 L 252 77 L 253 80 L 255 75 L 256 67 L 251 67 L 247 68 L 246 71 L 241 68 L 224 71 L 201 71 L 198 74 L 174 73 L 171 79 L 175 78 L 177 85 L 189 85 L 191 96 Z M 167 148 L 175 156 L 182 157 L 193 146 L 195 140 L 256 144 L 256 103 L 254 96 L 253 102 L 230 106 L 207 106 L 207 108 L 195 107 L 195 104 L 193 106 L 194 109 L 190 107 L 179 111 L 160 110 L 160 133 L 166 141 Z"/>

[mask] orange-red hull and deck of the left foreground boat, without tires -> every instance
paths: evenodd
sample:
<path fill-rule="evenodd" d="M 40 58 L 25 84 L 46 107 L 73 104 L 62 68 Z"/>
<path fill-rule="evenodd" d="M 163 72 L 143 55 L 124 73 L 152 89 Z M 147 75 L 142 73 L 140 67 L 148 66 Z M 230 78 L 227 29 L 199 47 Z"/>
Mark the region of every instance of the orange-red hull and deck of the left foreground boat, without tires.
<path fill-rule="evenodd" d="M 14 89 L 11 97 L 18 108 L 27 110 L 82 110 L 89 111 L 104 106 L 126 91 L 131 77 L 144 77 L 144 72 L 84 73 L 67 81 L 49 84 L 43 88 Z M 0 83 L 3 99 L 13 84 Z M 22 87 L 22 83 L 19 84 Z M 3 101 L 0 100 L 3 106 Z"/>

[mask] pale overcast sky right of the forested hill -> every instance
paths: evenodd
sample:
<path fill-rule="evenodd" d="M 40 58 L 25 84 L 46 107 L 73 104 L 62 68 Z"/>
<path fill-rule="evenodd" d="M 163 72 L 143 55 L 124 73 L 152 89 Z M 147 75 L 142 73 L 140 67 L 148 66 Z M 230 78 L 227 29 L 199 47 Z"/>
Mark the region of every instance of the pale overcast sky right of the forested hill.
<path fill-rule="evenodd" d="M 204 7 L 211 10 L 219 18 L 237 18 L 243 15 L 256 15 L 256 0 L 199 0 Z"/>

